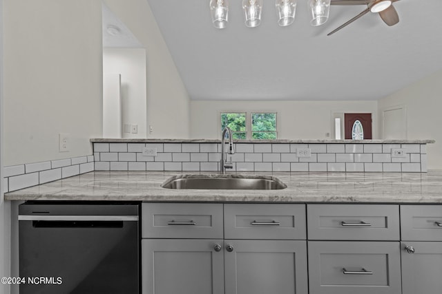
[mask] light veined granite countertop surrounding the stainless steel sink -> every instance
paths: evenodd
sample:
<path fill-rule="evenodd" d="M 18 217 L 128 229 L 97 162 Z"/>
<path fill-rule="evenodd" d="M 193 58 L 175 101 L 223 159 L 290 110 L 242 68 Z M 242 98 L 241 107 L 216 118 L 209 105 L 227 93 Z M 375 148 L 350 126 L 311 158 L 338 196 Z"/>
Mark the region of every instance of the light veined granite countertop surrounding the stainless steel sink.
<path fill-rule="evenodd" d="M 442 171 L 429 171 L 425 174 L 244 173 L 244 175 L 277 177 L 287 185 L 287 189 L 280 190 L 177 190 L 161 187 L 165 180 L 177 175 L 180 173 L 92 171 L 6 193 L 5 199 L 442 203 Z"/>

